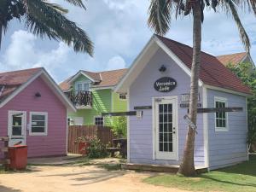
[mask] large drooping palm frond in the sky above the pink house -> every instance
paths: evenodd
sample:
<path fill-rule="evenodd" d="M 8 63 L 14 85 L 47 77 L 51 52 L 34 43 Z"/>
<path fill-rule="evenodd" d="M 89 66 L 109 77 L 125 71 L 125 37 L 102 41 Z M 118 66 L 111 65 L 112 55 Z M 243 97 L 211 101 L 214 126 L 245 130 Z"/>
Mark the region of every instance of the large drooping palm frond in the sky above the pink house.
<path fill-rule="evenodd" d="M 55 5 L 56 6 L 56 5 Z M 79 26 L 68 20 L 56 8 L 40 0 L 27 0 L 26 27 L 33 34 L 43 38 L 60 39 L 75 52 L 93 55 L 93 44 Z"/>

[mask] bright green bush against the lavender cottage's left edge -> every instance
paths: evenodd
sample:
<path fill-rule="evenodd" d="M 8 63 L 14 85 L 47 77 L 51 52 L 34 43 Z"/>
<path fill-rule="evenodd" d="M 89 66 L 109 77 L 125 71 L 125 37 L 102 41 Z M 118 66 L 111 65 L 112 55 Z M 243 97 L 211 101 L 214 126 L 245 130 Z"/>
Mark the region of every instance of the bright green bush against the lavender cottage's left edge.
<path fill-rule="evenodd" d="M 121 138 L 127 136 L 127 119 L 126 117 L 114 117 L 113 118 L 113 133 Z"/>

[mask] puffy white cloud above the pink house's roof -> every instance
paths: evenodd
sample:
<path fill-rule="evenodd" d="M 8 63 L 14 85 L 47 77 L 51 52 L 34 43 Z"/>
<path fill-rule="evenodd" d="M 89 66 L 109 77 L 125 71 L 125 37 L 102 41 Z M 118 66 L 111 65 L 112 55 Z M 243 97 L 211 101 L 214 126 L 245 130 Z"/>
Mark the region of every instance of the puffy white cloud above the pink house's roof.
<path fill-rule="evenodd" d="M 37 38 L 32 33 L 19 30 L 11 36 L 11 42 L 3 55 L 1 70 L 20 70 L 32 67 L 45 67 L 54 77 L 55 69 L 67 61 L 70 48 L 59 43 L 56 49 L 41 50 L 36 47 Z"/>

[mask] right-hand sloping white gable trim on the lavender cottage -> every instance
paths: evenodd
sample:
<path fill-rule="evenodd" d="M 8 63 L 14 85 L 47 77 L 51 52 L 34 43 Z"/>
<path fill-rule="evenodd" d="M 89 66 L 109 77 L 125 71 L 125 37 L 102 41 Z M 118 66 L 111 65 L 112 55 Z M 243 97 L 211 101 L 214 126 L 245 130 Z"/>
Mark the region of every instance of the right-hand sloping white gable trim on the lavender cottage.
<path fill-rule="evenodd" d="M 167 55 L 169 55 L 173 61 L 175 61 L 177 63 L 177 65 L 179 67 L 181 67 L 183 69 L 183 71 L 185 73 L 187 73 L 189 75 L 189 77 L 191 77 L 191 70 L 189 69 L 189 67 L 187 67 L 183 61 L 181 61 L 177 55 L 175 55 L 171 49 L 169 49 L 166 44 L 164 44 L 162 41 L 160 41 L 159 38 L 155 37 L 155 41 L 156 41 L 156 44 L 158 44 L 160 46 L 161 49 L 163 49 Z M 201 79 L 198 80 L 198 84 L 199 86 L 202 86 L 203 82 L 201 81 Z"/>

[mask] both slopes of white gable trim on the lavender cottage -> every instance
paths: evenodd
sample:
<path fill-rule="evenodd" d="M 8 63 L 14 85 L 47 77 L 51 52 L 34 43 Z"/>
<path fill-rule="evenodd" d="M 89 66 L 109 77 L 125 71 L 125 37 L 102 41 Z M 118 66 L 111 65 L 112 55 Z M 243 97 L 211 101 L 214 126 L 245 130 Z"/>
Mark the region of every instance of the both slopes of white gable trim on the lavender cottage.
<path fill-rule="evenodd" d="M 155 46 L 155 47 L 154 47 Z M 143 70 L 143 68 L 147 65 L 147 61 L 143 61 L 143 66 L 140 67 L 138 70 L 135 70 L 137 68 L 137 66 L 139 65 L 139 63 L 143 60 L 143 56 L 148 54 L 148 51 L 151 50 L 151 52 L 149 53 L 150 56 L 148 56 L 147 60 L 149 61 L 151 59 L 151 56 L 154 55 L 154 53 L 156 52 L 156 50 L 158 49 L 163 49 L 167 55 L 169 55 L 173 61 L 175 61 L 177 63 L 177 65 L 179 67 L 181 67 L 183 69 L 183 71 L 185 73 L 187 73 L 189 75 L 189 77 L 191 77 L 191 71 L 189 69 L 189 67 L 187 67 L 183 61 L 181 61 L 177 55 L 175 55 L 171 49 L 169 49 L 168 47 L 166 47 L 166 45 L 164 43 L 162 43 L 160 41 L 159 38 L 157 38 L 156 36 L 153 36 L 148 44 L 146 44 L 146 46 L 143 48 L 142 52 L 137 56 L 136 60 L 133 62 L 133 64 L 131 65 L 129 71 L 125 74 L 125 76 L 123 77 L 123 79 L 121 79 L 119 81 L 119 84 L 116 86 L 116 88 L 114 89 L 115 92 L 126 92 L 128 90 L 128 86 L 130 86 L 132 84 L 132 82 L 137 78 L 137 75 L 139 73 L 141 73 L 141 71 Z M 152 51 L 153 50 L 153 51 Z M 134 75 L 133 73 L 136 72 L 137 75 Z M 201 79 L 199 79 L 198 84 L 200 86 L 202 86 L 202 81 Z"/>

